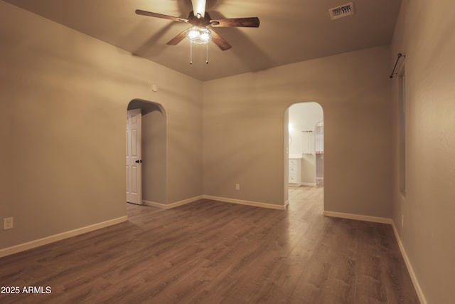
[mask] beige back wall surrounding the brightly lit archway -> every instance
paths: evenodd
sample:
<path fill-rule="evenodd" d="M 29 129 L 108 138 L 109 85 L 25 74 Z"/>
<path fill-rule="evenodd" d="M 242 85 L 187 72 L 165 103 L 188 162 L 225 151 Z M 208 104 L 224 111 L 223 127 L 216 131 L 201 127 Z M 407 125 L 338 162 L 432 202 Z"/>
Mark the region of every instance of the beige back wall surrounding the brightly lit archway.
<path fill-rule="evenodd" d="M 203 193 L 284 204 L 284 111 L 316 101 L 325 209 L 390 217 L 389 63 L 378 47 L 203 83 Z"/>

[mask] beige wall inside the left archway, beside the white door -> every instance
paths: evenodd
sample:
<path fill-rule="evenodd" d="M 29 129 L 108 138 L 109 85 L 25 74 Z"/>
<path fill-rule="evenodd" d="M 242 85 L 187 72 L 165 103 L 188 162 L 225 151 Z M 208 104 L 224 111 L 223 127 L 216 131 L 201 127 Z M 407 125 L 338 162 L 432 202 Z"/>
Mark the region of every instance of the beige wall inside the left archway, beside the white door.
<path fill-rule="evenodd" d="M 142 114 L 142 201 L 166 204 L 166 112 L 158 103 L 132 100 Z"/>

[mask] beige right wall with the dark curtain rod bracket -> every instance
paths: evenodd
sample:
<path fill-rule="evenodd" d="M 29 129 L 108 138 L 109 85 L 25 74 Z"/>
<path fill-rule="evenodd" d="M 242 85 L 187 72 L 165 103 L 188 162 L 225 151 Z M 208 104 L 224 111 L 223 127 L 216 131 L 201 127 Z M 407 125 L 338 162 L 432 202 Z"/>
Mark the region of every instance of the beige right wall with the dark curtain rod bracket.
<path fill-rule="evenodd" d="M 390 61 L 393 66 L 397 53 L 406 55 L 407 190 L 400 194 L 394 78 L 392 214 L 427 303 L 455 298 L 454 12 L 452 1 L 403 0 Z"/>

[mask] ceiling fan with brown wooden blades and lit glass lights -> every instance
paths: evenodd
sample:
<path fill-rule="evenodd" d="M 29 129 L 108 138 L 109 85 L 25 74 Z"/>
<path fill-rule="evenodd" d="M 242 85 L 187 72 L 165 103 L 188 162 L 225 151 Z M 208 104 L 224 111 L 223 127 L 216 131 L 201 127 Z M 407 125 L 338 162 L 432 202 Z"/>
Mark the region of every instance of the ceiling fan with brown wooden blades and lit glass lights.
<path fill-rule="evenodd" d="M 190 12 L 187 19 L 168 16 L 164 14 L 152 13 L 151 11 L 136 10 L 136 14 L 168 19 L 183 23 L 190 23 L 191 28 L 187 28 L 177 36 L 168 41 L 169 46 L 176 46 L 183 38 L 188 38 L 191 43 L 207 44 L 213 41 L 222 51 L 232 48 L 232 46 L 225 41 L 223 37 L 218 35 L 212 28 L 217 27 L 259 27 L 259 18 L 229 18 L 229 19 L 211 19 L 208 12 L 205 11 L 205 0 L 191 0 L 193 4 L 193 11 Z"/>

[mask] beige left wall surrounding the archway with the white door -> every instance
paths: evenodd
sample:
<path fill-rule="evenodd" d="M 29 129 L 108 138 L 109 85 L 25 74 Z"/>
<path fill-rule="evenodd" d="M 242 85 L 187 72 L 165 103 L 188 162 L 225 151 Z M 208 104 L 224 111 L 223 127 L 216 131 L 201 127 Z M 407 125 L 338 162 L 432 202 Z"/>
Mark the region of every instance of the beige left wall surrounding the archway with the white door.
<path fill-rule="evenodd" d="M 200 81 L 3 1 L 0 11 L 1 159 L 9 162 L 0 218 L 14 216 L 0 248 L 126 214 L 134 98 L 166 110 L 168 203 L 201 194 Z"/>

